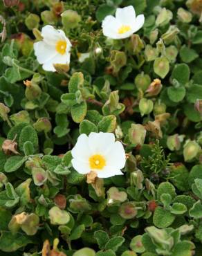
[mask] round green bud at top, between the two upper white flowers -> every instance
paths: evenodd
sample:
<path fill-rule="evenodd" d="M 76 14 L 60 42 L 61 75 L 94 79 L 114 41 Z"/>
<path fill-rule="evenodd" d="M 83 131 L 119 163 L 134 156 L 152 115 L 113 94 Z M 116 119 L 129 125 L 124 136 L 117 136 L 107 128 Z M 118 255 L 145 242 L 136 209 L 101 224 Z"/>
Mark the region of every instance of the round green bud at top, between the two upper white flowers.
<path fill-rule="evenodd" d="M 75 10 L 65 10 L 62 12 L 62 25 L 64 28 L 76 28 L 81 21 L 80 15 Z"/>

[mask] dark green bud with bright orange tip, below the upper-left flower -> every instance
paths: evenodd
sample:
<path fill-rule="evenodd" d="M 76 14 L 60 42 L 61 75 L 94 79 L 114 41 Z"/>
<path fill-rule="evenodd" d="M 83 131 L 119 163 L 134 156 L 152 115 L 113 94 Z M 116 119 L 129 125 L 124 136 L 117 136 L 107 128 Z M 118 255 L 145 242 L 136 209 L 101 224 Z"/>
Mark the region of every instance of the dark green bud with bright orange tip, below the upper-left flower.
<path fill-rule="evenodd" d="M 36 82 L 33 80 L 24 81 L 24 84 L 26 85 L 26 91 L 25 95 L 28 100 L 35 100 L 40 97 L 42 94 L 42 89 L 38 86 Z"/>

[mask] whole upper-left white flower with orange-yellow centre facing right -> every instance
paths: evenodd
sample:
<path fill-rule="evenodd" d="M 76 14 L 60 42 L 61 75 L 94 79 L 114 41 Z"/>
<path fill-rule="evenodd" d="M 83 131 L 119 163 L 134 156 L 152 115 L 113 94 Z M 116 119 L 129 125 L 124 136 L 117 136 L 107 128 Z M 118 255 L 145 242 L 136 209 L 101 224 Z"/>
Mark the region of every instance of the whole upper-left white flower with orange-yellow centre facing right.
<path fill-rule="evenodd" d="M 53 64 L 69 64 L 71 42 L 62 30 L 46 25 L 42 28 L 43 40 L 34 44 L 35 55 L 45 71 L 55 71 Z"/>

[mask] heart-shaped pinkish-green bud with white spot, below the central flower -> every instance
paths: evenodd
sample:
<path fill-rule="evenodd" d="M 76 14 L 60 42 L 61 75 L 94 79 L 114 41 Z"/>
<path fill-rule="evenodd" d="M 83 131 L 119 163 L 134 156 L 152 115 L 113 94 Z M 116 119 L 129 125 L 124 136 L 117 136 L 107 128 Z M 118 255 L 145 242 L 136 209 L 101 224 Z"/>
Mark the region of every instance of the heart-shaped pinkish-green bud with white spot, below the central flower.
<path fill-rule="evenodd" d="M 112 205 L 113 203 L 122 203 L 127 200 L 127 193 L 119 191 L 118 188 L 112 187 L 107 191 L 107 203 Z"/>

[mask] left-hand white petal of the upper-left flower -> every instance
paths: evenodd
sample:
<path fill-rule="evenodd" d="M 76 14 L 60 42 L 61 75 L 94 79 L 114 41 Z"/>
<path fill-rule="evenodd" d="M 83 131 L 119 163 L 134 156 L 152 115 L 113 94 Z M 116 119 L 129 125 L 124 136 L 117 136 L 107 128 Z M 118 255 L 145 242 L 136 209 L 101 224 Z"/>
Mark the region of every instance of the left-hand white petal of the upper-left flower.
<path fill-rule="evenodd" d="M 34 50 L 39 64 L 48 62 L 48 60 L 52 59 L 53 57 L 55 57 L 55 55 L 57 55 L 57 51 L 55 51 L 55 46 L 50 46 L 43 41 L 35 43 Z"/>

